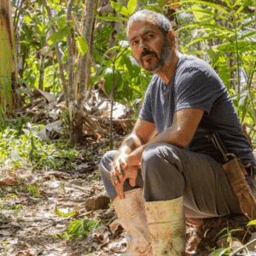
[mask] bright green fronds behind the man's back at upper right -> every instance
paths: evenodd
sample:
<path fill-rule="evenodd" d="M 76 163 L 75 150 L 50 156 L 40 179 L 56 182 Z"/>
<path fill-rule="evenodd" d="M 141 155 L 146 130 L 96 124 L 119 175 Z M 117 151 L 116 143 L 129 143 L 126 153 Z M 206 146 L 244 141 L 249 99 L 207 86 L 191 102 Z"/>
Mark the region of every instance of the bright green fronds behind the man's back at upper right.
<path fill-rule="evenodd" d="M 195 43 L 203 43 L 212 39 L 219 39 L 220 44 L 212 46 L 207 50 L 207 57 L 212 62 L 212 67 L 218 65 L 218 74 L 224 81 L 227 90 L 230 90 L 237 113 L 241 123 L 247 122 L 256 125 L 255 92 L 252 87 L 253 73 L 256 69 L 255 53 L 256 43 L 251 39 L 255 36 L 255 30 L 251 29 L 255 20 L 253 14 L 245 15 L 241 11 L 253 3 L 252 0 L 224 1 L 230 7 L 230 11 L 215 3 L 208 3 L 201 0 L 183 0 L 181 10 L 178 13 L 193 13 L 195 20 L 190 21 L 179 29 L 180 35 L 183 32 L 193 31 L 196 38 L 189 38 L 187 44 L 182 47 L 184 53 L 189 53 L 189 46 Z M 237 6 L 239 6 L 237 8 Z M 218 25 L 215 19 L 227 22 L 230 27 Z M 188 23 L 188 22 L 186 22 Z M 199 54 L 191 52 L 190 54 Z M 227 55 L 234 53 L 235 56 Z M 228 67 L 228 61 L 236 60 L 236 65 Z M 236 90 L 230 89 L 230 73 L 236 70 Z M 241 72 L 245 73 L 247 82 L 241 84 Z M 255 137 L 254 131 L 250 132 L 251 137 Z"/>

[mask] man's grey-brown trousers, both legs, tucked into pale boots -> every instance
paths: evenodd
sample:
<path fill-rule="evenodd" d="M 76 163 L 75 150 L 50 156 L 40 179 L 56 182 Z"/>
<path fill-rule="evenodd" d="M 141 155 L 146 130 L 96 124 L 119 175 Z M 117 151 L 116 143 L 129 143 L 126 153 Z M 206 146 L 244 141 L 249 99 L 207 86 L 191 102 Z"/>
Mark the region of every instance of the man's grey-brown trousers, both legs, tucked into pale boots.
<path fill-rule="evenodd" d="M 117 196 L 110 179 L 113 157 L 105 154 L 99 171 L 113 201 Z M 143 188 L 146 201 L 167 201 L 183 195 L 186 217 L 212 218 L 241 213 L 238 198 L 221 165 L 207 154 L 196 154 L 170 144 L 154 144 L 143 152 L 136 187 L 125 181 L 124 191 Z"/>

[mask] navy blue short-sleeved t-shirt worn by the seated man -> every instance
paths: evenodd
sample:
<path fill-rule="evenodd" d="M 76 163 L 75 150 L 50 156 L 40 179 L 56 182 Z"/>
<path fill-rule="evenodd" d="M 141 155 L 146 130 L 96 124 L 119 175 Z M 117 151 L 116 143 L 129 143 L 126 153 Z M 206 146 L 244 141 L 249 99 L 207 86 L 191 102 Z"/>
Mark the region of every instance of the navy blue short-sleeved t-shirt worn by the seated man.
<path fill-rule="evenodd" d="M 154 123 L 160 133 L 172 126 L 174 113 L 183 108 L 204 110 L 195 136 L 186 149 L 209 154 L 222 163 L 222 154 L 206 137 L 217 132 L 229 154 L 236 154 L 243 164 L 255 162 L 253 148 L 243 134 L 236 108 L 223 81 L 206 61 L 192 55 L 181 56 L 167 86 L 158 75 L 154 75 L 148 84 L 139 117 Z"/>

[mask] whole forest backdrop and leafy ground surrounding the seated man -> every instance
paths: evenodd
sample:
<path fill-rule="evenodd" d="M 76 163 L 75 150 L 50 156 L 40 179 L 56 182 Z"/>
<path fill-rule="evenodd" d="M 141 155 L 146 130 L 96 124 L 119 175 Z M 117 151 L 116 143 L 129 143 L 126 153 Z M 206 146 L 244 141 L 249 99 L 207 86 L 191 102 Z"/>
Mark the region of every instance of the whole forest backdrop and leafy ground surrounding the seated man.
<path fill-rule="evenodd" d="M 255 1 L 2 0 L 0 255 L 125 251 L 98 164 L 131 131 L 152 77 L 125 38 L 138 9 L 166 15 L 179 51 L 212 65 L 256 147 Z M 256 255 L 252 224 L 188 226 L 187 255 Z"/>

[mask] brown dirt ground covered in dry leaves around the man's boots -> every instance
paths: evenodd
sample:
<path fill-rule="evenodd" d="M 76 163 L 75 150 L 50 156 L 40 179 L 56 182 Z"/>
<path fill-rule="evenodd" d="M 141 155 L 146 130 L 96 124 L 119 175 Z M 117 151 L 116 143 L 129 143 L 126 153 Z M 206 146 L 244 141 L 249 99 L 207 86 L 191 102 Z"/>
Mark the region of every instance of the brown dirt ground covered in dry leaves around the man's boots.
<path fill-rule="evenodd" d="M 116 138 L 115 147 L 121 141 L 122 137 Z M 117 224 L 116 214 L 98 172 L 106 145 L 106 141 L 92 144 L 87 148 L 92 154 L 85 158 L 78 157 L 75 168 L 66 172 L 46 172 L 44 169 L 32 172 L 26 168 L 13 172 L 0 171 L 0 181 L 9 182 L 0 189 L 1 256 L 107 256 L 125 252 L 125 231 Z M 11 182 L 15 185 L 10 185 Z M 75 214 L 66 217 L 56 212 Z M 82 240 L 61 238 L 74 220 L 83 218 L 100 222 L 100 228 Z M 191 243 L 200 242 L 200 250 L 188 255 L 206 256 L 211 253 L 212 247 L 218 247 L 219 241 L 214 240 L 214 236 L 227 227 L 227 220 L 214 220 L 213 226 L 205 229 L 208 240 L 193 238 L 193 229 L 188 226 L 187 233 L 192 234 L 189 236 Z M 230 219 L 232 221 L 235 224 L 230 224 L 231 228 L 241 228 L 241 231 L 236 231 L 240 239 L 245 237 L 246 242 L 252 238 L 251 231 L 246 234 L 247 220 L 239 217 Z M 226 240 L 221 242 L 225 244 Z"/>

